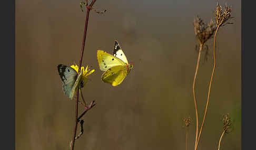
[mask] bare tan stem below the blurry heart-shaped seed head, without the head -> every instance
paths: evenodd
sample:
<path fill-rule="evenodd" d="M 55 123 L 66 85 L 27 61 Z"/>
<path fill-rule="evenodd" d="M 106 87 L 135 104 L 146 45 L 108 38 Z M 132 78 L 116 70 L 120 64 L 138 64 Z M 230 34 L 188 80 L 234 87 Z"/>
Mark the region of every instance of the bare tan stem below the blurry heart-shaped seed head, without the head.
<path fill-rule="evenodd" d="M 196 63 L 195 76 L 194 76 L 194 81 L 193 81 L 193 97 L 194 97 L 195 118 L 196 118 L 195 145 L 198 140 L 198 106 L 196 105 L 196 99 L 195 99 L 195 80 L 196 80 L 196 76 L 198 74 L 198 68 L 199 68 L 199 63 L 200 63 L 202 47 L 203 47 L 203 44 L 200 44 L 200 49 L 199 49 L 199 53 L 198 53 L 198 62 Z"/>

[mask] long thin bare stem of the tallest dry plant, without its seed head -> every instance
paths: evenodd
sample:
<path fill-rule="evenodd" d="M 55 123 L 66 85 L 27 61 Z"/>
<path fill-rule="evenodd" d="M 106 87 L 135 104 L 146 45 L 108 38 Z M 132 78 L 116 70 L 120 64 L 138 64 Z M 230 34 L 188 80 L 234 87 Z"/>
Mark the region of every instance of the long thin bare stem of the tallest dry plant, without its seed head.
<path fill-rule="evenodd" d="M 214 71 L 215 71 L 215 67 L 216 67 L 215 45 L 216 45 L 216 35 L 218 33 L 219 27 L 220 27 L 220 25 L 217 26 L 216 31 L 215 31 L 215 35 L 214 35 L 214 45 L 213 45 L 214 64 L 213 64 L 213 68 L 212 68 L 212 76 L 211 76 L 211 80 L 210 80 L 210 84 L 209 84 L 208 97 L 207 97 L 207 103 L 206 103 L 206 106 L 205 106 L 203 122 L 202 122 L 202 125 L 201 125 L 201 128 L 200 128 L 200 132 L 199 132 L 199 135 L 198 135 L 198 141 L 196 142 L 196 145 L 195 145 L 195 150 L 197 149 L 198 143 L 200 141 L 200 136 L 201 136 L 203 125 L 204 125 L 204 121 L 205 121 L 205 117 L 206 117 L 206 112 L 207 112 L 208 105 L 209 105 L 211 85 L 212 85 L 213 75 L 214 75 Z"/>

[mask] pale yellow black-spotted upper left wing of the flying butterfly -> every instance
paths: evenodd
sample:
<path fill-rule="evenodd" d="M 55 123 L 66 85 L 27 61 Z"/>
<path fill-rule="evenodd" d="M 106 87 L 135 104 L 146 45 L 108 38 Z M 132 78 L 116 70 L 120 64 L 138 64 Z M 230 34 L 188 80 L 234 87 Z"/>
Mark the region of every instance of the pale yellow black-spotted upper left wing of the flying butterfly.
<path fill-rule="evenodd" d="M 99 66 L 101 71 L 106 71 L 107 69 L 114 67 L 114 66 L 126 66 L 125 62 L 123 62 L 121 59 L 110 55 L 109 53 L 98 50 L 97 51 L 97 59 L 99 62 Z"/>

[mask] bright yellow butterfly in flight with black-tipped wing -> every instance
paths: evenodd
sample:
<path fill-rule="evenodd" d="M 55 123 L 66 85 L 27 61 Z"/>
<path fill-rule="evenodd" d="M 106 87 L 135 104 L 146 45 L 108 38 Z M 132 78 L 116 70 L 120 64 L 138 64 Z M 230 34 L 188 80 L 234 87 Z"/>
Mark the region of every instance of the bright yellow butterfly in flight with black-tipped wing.
<path fill-rule="evenodd" d="M 110 55 L 103 50 L 98 50 L 97 59 L 101 71 L 105 71 L 101 76 L 102 81 L 110 83 L 113 86 L 122 83 L 124 78 L 133 68 L 132 63 L 128 63 L 124 52 L 117 41 L 115 41 L 113 55 Z"/>

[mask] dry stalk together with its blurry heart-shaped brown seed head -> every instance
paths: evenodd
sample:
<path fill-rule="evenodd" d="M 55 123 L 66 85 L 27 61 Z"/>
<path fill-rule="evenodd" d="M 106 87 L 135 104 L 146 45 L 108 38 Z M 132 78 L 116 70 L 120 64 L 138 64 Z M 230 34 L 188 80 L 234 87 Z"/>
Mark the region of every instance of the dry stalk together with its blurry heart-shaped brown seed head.
<path fill-rule="evenodd" d="M 197 16 L 194 19 L 195 36 L 198 38 L 199 46 L 200 46 L 199 53 L 198 53 L 198 61 L 196 63 L 196 68 L 195 68 L 193 87 L 192 87 L 194 105 L 195 105 L 195 117 L 196 117 L 195 145 L 198 140 L 198 108 L 197 108 L 196 98 L 195 98 L 195 81 L 196 81 L 196 77 L 198 74 L 198 68 L 199 68 L 202 48 L 203 48 L 205 42 L 212 37 L 215 29 L 216 28 L 215 28 L 215 25 L 212 20 L 210 21 L 210 23 L 208 25 L 206 25 L 199 16 Z"/>

